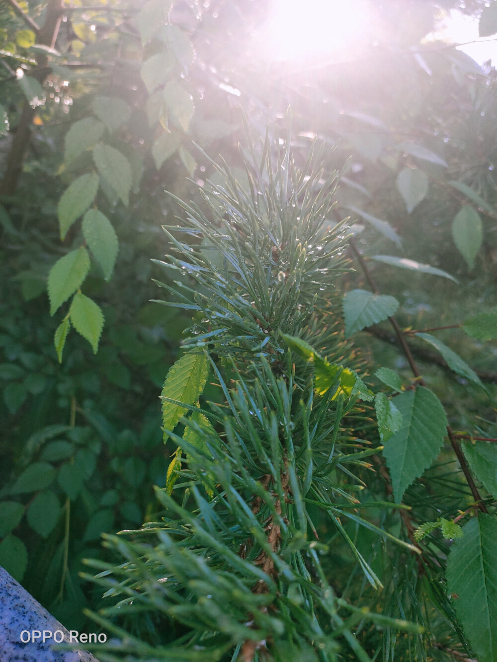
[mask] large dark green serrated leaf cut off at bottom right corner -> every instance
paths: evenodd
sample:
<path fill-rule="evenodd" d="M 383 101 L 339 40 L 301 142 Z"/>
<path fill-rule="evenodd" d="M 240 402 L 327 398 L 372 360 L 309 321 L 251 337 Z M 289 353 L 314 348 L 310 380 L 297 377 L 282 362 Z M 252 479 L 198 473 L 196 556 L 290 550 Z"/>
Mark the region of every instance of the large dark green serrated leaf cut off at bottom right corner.
<path fill-rule="evenodd" d="M 478 514 L 447 559 L 447 588 L 478 662 L 497 659 L 497 519 Z"/>

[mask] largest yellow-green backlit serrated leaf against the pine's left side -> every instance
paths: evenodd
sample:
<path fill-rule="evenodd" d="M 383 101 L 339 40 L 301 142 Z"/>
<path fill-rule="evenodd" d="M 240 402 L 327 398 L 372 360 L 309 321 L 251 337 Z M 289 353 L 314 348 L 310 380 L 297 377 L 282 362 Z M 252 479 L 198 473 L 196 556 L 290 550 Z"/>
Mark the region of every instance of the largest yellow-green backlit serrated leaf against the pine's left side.
<path fill-rule="evenodd" d="M 207 381 L 209 363 L 205 354 L 188 352 L 178 359 L 169 369 L 161 398 L 170 398 L 184 404 L 195 404 Z M 162 401 L 162 425 L 164 426 L 164 442 L 168 440 L 169 432 L 186 412 L 186 408 L 174 402 Z"/>

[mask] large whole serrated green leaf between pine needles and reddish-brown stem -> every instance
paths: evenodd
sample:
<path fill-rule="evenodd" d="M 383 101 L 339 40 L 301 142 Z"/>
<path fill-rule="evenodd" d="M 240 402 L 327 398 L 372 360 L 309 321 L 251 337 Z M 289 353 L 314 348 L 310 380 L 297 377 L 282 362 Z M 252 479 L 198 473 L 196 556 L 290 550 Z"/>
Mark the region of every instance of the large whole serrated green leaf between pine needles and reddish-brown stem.
<path fill-rule="evenodd" d="M 401 393 L 395 404 L 402 414 L 402 428 L 386 442 L 383 455 L 390 469 L 394 498 L 400 503 L 406 489 L 437 458 L 447 417 L 437 396 L 422 386 Z"/>

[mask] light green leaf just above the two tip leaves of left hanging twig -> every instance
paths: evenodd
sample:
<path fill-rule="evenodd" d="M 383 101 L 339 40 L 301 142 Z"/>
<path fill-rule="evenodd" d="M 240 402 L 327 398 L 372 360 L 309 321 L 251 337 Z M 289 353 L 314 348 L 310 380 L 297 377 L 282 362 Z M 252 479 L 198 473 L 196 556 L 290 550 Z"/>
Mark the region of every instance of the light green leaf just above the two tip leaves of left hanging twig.
<path fill-rule="evenodd" d="M 89 271 L 89 255 L 84 246 L 56 261 L 48 274 L 48 299 L 53 315 L 81 287 Z M 61 325 L 62 326 L 62 325 Z M 62 333 L 61 327 L 57 331 Z"/>

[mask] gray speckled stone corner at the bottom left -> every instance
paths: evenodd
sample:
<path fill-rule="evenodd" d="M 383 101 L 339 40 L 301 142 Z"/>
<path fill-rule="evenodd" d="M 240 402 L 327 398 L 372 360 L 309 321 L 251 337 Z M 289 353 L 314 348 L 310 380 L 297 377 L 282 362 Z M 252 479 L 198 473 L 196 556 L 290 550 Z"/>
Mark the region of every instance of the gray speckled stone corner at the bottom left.
<path fill-rule="evenodd" d="M 37 641 L 27 641 L 32 631 L 41 633 Z M 45 642 L 43 631 L 46 632 Z M 28 633 L 23 634 L 26 643 L 21 641 L 21 632 Z M 48 632 L 52 633 L 51 638 Z M 87 651 L 57 651 L 53 640 L 55 632 L 64 633 L 64 641 L 70 641 L 68 630 L 0 567 L 0 661 L 98 662 Z M 56 639 L 60 638 L 62 634 L 57 634 Z"/>

